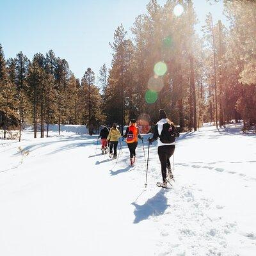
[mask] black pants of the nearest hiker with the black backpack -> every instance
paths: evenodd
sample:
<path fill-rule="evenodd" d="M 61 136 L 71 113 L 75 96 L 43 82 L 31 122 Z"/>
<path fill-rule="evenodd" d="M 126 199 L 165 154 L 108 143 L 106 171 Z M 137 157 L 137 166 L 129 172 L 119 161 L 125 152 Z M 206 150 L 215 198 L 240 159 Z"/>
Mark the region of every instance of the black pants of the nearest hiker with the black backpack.
<path fill-rule="evenodd" d="M 166 180 L 166 170 L 168 166 L 171 166 L 170 157 L 173 155 L 174 150 L 175 150 L 175 145 L 158 147 L 158 156 L 161 163 L 163 180 Z"/>

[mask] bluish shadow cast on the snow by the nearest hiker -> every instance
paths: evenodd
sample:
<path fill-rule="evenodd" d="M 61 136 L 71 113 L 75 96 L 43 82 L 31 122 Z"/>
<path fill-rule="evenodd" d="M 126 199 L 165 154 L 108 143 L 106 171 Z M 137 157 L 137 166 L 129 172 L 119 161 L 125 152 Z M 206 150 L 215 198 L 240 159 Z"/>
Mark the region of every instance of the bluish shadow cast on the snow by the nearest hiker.
<path fill-rule="evenodd" d="M 134 209 L 135 219 L 134 224 L 140 223 L 142 220 L 147 220 L 149 216 L 163 215 L 166 209 L 170 206 L 167 204 L 164 189 L 161 189 L 155 196 L 149 198 L 143 205 L 132 203 L 136 208 Z"/>

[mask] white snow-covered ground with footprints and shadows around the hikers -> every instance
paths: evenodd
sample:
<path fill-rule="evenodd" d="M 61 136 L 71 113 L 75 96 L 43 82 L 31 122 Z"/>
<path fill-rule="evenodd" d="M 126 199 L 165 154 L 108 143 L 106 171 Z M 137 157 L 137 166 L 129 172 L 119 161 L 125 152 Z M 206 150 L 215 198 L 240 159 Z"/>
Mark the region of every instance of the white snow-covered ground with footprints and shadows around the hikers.
<path fill-rule="evenodd" d="M 181 134 L 167 190 L 156 145 L 145 189 L 141 143 L 130 168 L 125 145 L 116 164 L 97 136 L 0 140 L 0 255 L 255 256 L 256 135 L 240 129 Z"/>

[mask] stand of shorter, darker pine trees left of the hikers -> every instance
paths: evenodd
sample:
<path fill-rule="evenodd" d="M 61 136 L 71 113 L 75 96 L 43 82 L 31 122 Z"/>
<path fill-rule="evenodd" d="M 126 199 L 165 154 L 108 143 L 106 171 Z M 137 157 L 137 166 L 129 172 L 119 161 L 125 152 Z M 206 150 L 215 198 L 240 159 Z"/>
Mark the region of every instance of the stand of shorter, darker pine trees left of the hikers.
<path fill-rule="evenodd" d="M 81 81 L 68 67 L 65 59 L 53 51 L 38 53 L 33 60 L 19 52 L 16 58 L 4 60 L 0 45 L 0 127 L 4 138 L 8 129 L 29 122 L 34 137 L 49 136 L 49 124 L 86 124 L 90 133 L 102 119 L 100 90 L 95 86 L 95 74 L 88 68 Z"/>

